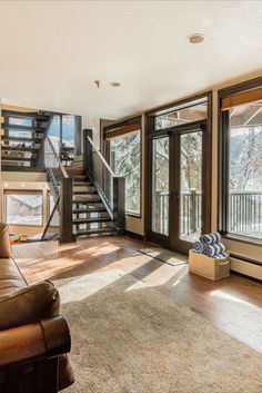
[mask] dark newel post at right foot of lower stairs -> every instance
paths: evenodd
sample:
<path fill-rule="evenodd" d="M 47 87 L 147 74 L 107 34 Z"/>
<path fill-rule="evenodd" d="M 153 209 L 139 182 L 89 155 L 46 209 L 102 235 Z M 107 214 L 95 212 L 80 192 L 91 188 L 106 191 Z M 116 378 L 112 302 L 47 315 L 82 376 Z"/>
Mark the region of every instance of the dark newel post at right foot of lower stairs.
<path fill-rule="evenodd" d="M 118 234 L 124 233 L 124 177 L 113 178 L 113 220 Z"/>

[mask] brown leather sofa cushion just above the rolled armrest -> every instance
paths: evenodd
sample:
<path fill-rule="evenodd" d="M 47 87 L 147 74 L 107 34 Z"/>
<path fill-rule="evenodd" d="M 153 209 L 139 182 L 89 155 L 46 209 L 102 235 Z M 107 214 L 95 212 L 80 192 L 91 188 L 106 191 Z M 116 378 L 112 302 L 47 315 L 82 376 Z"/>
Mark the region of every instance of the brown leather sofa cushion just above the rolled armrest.
<path fill-rule="evenodd" d="M 26 286 L 0 297 L 0 331 L 59 315 L 59 293 L 50 282 Z"/>

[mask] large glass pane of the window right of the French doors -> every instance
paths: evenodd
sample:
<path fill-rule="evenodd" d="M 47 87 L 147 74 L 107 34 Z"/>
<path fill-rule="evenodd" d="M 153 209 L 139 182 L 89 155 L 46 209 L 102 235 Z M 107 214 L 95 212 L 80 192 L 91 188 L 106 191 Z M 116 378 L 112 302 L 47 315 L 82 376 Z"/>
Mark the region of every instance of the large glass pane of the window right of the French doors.
<path fill-rule="evenodd" d="M 262 102 L 230 111 L 228 232 L 262 239 Z"/>

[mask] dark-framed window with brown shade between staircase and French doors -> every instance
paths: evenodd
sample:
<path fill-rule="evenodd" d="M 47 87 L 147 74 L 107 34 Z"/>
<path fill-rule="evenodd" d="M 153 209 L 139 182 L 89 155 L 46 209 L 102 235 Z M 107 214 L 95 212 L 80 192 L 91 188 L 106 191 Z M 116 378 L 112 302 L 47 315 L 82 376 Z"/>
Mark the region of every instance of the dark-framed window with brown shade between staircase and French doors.
<path fill-rule="evenodd" d="M 141 118 L 103 130 L 105 158 L 117 176 L 125 178 L 125 214 L 141 217 Z"/>

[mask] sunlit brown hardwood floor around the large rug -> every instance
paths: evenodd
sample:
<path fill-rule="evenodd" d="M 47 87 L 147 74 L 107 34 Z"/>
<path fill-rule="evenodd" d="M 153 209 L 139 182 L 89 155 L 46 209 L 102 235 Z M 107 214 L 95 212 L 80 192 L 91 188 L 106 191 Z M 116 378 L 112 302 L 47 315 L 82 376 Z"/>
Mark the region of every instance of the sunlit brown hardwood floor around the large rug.
<path fill-rule="evenodd" d="M 130 237 L 100 237 L 13 246 L 29 283 L 121 268 L 183 304 L 221 330 L 262 352 L 262 284 L 238 275 L 212 282 L 140 254 L 147 244 Z"/>

